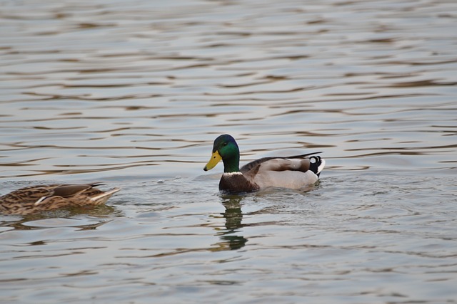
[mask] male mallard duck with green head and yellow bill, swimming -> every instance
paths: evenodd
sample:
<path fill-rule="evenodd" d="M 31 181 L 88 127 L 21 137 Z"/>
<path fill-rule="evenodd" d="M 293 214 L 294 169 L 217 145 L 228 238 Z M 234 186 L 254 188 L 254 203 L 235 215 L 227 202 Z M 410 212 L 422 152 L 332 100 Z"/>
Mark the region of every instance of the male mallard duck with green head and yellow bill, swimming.
<path fill-rule="evenodd" d="M 240 151 L 230 135 L 214 140 L 213 154 L 205 171 L 213 169 L 222 159 L 224 174 L 219 190 L 225 192 L 253 192 L 265 187 L 298 189 L 317 182 L 325 160 L 311 156 L 313 152 L 290 157 L 263 157 L 249 162 L 239 169 Z"/>

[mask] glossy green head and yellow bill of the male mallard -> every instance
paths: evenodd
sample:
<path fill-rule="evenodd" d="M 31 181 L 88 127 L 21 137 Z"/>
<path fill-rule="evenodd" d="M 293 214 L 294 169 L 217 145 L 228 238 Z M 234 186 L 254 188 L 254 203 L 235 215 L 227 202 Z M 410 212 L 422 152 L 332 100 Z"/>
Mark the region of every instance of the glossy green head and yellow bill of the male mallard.
<path fill-rule="evenodd" d="M 214 140 L 213 154 L 204 170 L 213 169 L 221 159 L 224 162 L 224 172 L 240 171 L 240 150 L 235 139 L 228 134 L 221 135 Z"/>

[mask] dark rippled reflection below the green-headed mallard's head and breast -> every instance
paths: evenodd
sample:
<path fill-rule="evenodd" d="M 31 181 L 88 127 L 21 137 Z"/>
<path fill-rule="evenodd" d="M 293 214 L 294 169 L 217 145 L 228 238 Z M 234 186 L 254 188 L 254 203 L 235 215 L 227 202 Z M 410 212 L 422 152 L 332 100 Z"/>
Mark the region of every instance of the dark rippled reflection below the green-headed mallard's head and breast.
<path fill-rule="evenodd" d="M 221 203 L 224 205 L 226 211 L 222 216 L 226 219 L 226 229 L 219 231 L 217 234 L 221 238 L 221 242 L 217 245 L 219 250 L 236 250 L 242 248 L 248 239 L 244 236 L 237 235 L 240 228 L 243 227 L 241 223 L 243 213 L 241 212 L 241 200 L 243 196 L 238 195 L 222 195 Z"/>

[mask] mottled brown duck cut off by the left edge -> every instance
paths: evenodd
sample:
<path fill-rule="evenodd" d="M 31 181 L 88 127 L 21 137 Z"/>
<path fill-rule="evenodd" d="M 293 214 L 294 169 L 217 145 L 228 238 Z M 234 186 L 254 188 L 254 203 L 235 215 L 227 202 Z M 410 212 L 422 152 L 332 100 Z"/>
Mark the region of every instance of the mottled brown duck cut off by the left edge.
<path fill-rule="evenodd" d="M 0 196 L 0 213 L 33 214 L 69 206 L 104 204 L 119 188 L 103 192 L 94 184 L 51 184 L 18 189 Z"/>

